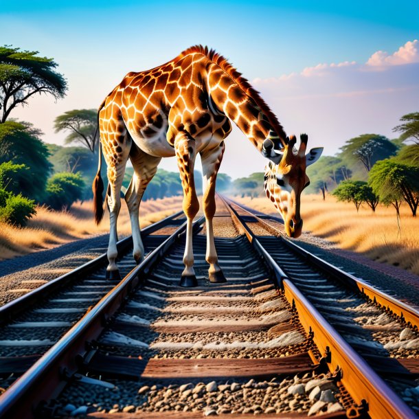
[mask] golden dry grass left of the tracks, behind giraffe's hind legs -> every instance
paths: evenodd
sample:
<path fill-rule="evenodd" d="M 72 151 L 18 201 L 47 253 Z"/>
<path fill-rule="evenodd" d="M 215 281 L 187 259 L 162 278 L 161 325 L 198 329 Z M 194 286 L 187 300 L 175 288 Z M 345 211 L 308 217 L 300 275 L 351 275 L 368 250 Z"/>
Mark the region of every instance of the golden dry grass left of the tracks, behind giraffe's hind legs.
<path fill-rule="evenodd" d="M 146 227 L 170 214 L 181 210 L 182 197 L 144 201 L 140 207 L 140 225 Z M 93 203 L 76 203 L 69 212 L 36 209 L 36 216 L 27 227 L 18 228 L 0 223 L 0 260 L 49 249 L 77 238 L 104 234 L 109 231 L 109 214 L 105 212 L 102 223 L 97 226 L 93 220 Z M 125 203 L 122 203 L 118 218 L 118 234 L 131 234 L 131 224 Z"/>

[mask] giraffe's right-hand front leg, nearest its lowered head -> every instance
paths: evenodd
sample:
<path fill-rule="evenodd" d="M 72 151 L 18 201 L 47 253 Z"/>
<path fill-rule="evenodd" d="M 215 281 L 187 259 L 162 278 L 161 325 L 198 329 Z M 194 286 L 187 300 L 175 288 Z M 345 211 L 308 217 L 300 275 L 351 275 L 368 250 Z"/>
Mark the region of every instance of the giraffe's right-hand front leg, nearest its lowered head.
<path fill-rule="evenodd" d="M 218 264 L 217 251 L 214 244 L 214 231 L 212 219 L 216 212 L 215 185 L 218 169 L 224 153 L 224 141 L 211 150 L 201 153 L 202 172 L 203 172 L 203 210 L 207 227 L 207 253 L 205 260 L 210 264 L 208 277 L 210 282 L 226 282 L 223 271 Z"/>

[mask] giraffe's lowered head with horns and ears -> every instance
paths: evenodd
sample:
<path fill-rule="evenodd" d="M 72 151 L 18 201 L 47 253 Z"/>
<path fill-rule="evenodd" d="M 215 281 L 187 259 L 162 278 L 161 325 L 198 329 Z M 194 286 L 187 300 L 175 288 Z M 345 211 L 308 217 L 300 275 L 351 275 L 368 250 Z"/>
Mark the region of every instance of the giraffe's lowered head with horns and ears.
<path fill-rule="evenodd" d="M 306 155 L 308 137 L 300 136 L 301 143 L 296 150 L 294 136 L 289 137 L 281 150 L 275 150 L 273 141 L 267 139 L 264 150 L 276 158 L 265 168 L 264 190 L 273 202 L 285 223 L 285 232 L 289 237 L 298 237 L 302 232 L 303 220 L 299 214 L 300 196 L 302 190 L 310 183 L 306 175 L 306 167 L 315 163 L 321 156 L 322 147 L 312 148 Z M 270 141 L 270 142 L 269 142 Z"/>

